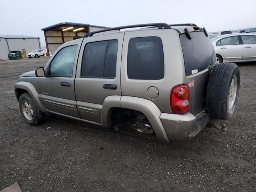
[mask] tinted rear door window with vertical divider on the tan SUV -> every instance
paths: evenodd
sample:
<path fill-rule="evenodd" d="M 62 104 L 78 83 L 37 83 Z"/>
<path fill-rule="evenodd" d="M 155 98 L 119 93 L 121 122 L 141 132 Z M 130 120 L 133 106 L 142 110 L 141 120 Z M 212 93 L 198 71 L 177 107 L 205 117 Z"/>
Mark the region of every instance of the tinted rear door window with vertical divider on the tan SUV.
<path fill-rule="evenodd" d="M 81 77 L 115 78 L 118 40 L 86 44 L 84 48 Z"/>

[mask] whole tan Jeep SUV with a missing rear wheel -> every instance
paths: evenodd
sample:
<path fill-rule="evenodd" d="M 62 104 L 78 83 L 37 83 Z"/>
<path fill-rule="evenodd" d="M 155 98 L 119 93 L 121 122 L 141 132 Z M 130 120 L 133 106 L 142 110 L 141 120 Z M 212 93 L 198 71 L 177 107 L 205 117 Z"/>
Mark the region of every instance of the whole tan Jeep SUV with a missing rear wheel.
<path fill-rule="evenodd" d="M 239 88 L 238 67 L 217 62 L 205 28 L 165 23 L 89 32 L 14 86 L 30 125 L 51 112 L 108 128 L 126 123 L 164 142 L 230 118 Z"/>

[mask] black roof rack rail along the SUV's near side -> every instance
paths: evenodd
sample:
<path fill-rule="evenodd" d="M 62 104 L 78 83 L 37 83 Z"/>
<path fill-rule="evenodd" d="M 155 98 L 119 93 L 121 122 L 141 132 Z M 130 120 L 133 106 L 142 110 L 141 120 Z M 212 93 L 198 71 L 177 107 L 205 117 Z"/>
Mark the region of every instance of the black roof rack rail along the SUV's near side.
<path fill-rule="evenodd" d="M 121 26 L 121 27 L 113 27 L 113 28 L 108 28 L 108 29 L 102 29 L 98 31 L 93 31 L 85 34 L 83 38 L 93 36 L 93 34 L 96 33 L 101 33 L 101 32 L 106 32 L 106 31 L 112 31 L 112 30 L 120 30 L 120 29 L 128 29 L 128 28 L 136 28 L 136 27 L 150 27 L 150 26 L 156 26 L 158 29 L 170 29 L 170 25 L 166 23 L 148 23 L 148 24 L 138 24 L 138 25 L 126 25 L 126 26 Z"/>

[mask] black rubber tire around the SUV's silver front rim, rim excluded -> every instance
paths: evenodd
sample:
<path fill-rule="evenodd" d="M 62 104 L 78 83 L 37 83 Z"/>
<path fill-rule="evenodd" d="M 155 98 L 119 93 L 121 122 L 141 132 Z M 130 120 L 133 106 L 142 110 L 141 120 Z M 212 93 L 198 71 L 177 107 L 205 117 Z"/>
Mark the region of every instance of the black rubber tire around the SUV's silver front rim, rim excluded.
<path fill-rule="evenodd" d="M 23 110 L 22 110 L 22 103 L 24 103 L 24 102 L 28 102 L 32 108 L 33 116 L 32 116 L 31 120 L 25 116 L 25 114 L 24 114 L 25 112 L 23 112 Z M 28 124 L 39 125 L 43 122 L 43 120 L 45 118 L 45 114 L 38 109 L 34 100 L 31 98 L 30 94 L 24 93 L 20 96 L 19 107 L 20 107 L 20 112 L 22 114 L 22 117 Z"/>

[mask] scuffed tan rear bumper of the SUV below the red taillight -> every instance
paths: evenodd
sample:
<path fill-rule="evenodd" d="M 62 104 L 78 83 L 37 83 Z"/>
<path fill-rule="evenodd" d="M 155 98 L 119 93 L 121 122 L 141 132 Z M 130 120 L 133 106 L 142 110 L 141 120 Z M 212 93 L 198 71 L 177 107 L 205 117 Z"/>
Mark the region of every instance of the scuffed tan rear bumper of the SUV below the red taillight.
<path fill-rule="evenodd" d="M 160 120 L 171 142 L 186 141 L 192 139 L 207 126 L 209 115 L 202 112 L 196 116 L 191 113 L 182 115 L 161 113 Z"/>

